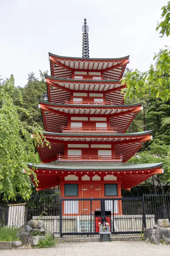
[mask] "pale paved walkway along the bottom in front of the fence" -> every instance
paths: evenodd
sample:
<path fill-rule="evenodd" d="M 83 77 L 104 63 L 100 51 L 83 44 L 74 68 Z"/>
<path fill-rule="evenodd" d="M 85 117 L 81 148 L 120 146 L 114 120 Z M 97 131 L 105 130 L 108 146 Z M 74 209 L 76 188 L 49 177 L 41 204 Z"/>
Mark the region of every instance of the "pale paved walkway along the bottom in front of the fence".
<path fill-rule="evenodd" d="M 144 241 L 59 243 L 48 249 L 0 250 L 0 256 L 170 256 L 170 245 Z"/>

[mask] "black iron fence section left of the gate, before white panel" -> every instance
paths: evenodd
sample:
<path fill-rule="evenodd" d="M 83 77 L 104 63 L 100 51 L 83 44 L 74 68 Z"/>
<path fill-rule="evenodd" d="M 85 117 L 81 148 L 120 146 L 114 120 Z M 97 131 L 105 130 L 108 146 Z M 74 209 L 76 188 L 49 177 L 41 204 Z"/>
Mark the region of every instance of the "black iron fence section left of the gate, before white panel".
<path fill-rule="evenodd" d="M 0 196 L 0 227 L 20 229 L 31 219 L 41 219 L 49 231 L 59 233 L 59 207 L 59 195 L 32 195 L 29 200 L 17 196 L 8 202 Z"/>

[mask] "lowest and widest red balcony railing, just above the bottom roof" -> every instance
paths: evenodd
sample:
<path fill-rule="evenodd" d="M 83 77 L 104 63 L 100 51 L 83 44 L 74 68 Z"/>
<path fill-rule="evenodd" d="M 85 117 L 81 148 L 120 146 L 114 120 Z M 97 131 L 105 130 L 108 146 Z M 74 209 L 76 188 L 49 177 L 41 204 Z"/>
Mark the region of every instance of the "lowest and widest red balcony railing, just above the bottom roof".
<path fill-rule="evenodd" d="M 90 152 L 89 152 L 90 154 Z M 59 162 L 122 162 L 123 157 L 120 156 L 82 156 L 82 155 L 57 155 Z"/>

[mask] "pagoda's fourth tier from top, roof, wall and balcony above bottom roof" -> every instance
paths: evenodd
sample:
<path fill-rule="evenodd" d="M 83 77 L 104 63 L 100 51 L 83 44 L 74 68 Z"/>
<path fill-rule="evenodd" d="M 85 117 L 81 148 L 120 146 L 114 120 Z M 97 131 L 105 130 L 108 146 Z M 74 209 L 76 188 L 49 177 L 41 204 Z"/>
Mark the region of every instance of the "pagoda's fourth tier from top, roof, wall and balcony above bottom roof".
<path fill-rule="evenodd" d="M 105 162 L 126 162 L 141 148 L 142 143 L 151 140 L 152 131 L 119 134 L 115 132 L 43 132 L 50 148 L 38 147 L 42 163 L 64 160 L 103 160 Z"/>

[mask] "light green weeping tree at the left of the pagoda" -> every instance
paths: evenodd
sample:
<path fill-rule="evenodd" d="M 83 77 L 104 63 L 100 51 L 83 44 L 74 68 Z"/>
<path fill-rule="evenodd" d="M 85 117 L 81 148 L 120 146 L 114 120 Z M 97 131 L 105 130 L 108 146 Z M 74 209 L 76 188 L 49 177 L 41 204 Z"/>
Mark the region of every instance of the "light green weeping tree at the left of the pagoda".
<path fill-rule="evenodd" d="M 14 77 L 0 86 L 0 192 L 4 198 L 15 198 L 17 194 L 28 198 L 31 194 L 31 178 L 38 180 L 34 170 L 28 168 L 27 163 L 40 163 L 35 145 L 45 140 L 40 125 L 34 122 L 30 111 L 16 106 L 10 94 L 17 90 L 14 87 Z M 22 97 L 20 97 L 22 102 Z M 23 125 L 19 113 L 24 113 L 31 120 L 29 130 Z M 48 142 L 46 141 L 47 145 Z M 25 173 L 23 172 L 25 170 Z"/>

